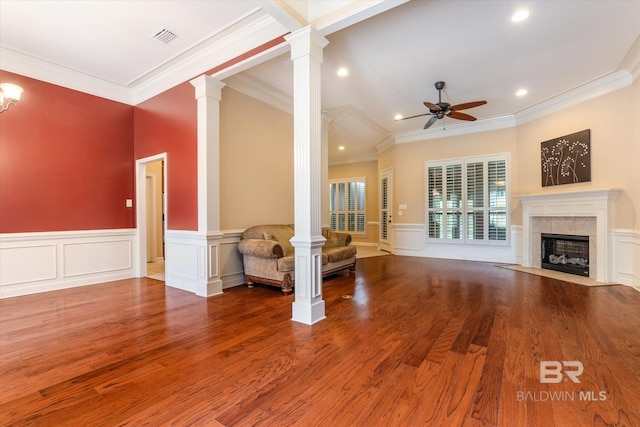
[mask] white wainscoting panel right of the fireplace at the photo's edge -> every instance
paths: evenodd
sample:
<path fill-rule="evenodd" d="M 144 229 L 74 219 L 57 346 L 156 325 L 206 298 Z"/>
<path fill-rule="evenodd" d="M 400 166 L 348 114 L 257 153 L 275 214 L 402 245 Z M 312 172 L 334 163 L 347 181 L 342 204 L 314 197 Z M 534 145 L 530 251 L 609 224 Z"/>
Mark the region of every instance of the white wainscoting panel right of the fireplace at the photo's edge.
<path fill-rule="evenodd" d="M 612 281 L 640 291 L 640 230 L 611 231 Z"/>

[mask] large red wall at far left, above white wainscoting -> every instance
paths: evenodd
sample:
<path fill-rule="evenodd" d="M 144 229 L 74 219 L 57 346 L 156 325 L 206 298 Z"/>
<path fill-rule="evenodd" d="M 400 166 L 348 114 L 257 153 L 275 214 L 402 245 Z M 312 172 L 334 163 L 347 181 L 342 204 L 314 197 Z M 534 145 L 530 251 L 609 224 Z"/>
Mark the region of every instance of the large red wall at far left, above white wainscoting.
<path fill-rule="evenodd" d="M 0 232 L 135 227 L 133 107 L 0 71 Z"/>

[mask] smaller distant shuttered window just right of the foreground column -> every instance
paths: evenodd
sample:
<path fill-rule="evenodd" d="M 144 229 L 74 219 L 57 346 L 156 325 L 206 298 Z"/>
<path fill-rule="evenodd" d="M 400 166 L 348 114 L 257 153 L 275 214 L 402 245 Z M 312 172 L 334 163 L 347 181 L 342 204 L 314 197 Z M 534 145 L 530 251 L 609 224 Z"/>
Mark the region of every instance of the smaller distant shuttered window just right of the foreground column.
<path fill-rule="evenodd" d="M 365 234 L 366 179 L 349 178 L 329 182 L 329 224 L 336 231 Z"/>

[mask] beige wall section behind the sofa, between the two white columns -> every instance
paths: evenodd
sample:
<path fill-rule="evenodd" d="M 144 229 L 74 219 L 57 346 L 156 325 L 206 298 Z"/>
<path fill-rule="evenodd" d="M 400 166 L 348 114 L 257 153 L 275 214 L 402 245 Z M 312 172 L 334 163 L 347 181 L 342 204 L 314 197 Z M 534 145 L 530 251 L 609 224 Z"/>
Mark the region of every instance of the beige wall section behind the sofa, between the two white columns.
<path fill-rule="evenodd" d="M 220 228 L 293 223 L 293 117 L 225 87 L 220 103 Z"/>

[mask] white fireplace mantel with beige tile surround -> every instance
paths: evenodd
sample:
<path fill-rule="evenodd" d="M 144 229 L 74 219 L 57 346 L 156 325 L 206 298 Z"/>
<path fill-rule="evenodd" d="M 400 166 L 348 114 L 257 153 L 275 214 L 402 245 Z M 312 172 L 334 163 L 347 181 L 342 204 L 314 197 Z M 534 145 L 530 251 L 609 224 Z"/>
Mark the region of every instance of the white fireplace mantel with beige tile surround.
<path fill-rule="evenodd" d="M 522 202 L 522 265 L 540 268 L 541 234 L 589 236 L 589 277 L 611 280 L 611 221 L 619 190 L 529 194 Z"/>

